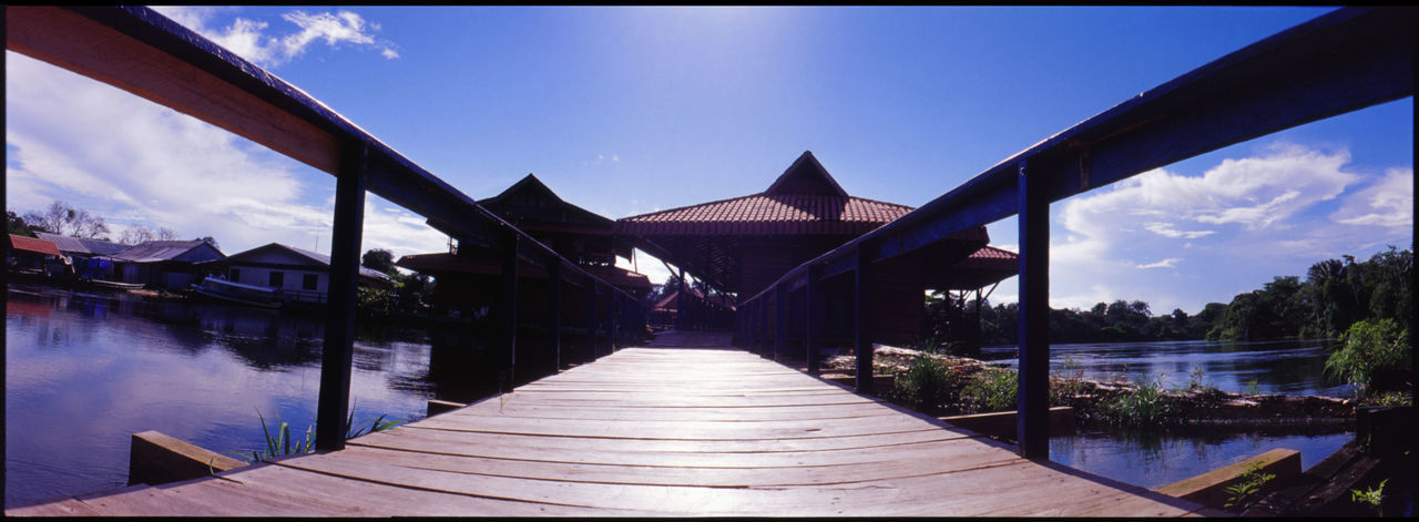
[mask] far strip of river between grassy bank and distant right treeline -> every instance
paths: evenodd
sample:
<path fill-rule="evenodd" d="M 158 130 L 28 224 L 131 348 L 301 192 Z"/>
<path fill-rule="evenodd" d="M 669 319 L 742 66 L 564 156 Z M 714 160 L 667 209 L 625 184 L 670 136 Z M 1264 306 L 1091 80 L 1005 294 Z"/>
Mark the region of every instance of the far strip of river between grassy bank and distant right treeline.
<path fill-rule="evenodd" d="M 1060 376 L 1093 380 L 1127 377 L 1162 380 L 1164 386 L 1186 386 L 1196 369 L 1202 383 L 1225 392 L 1279 393 L 1293 396 L 1348 397 L 1349 386 L 1327 379 L 1327 340 L 1273 342 L 1147 342 L 1051 345 L 1050 370 Z M 1015 346 L 988 346 L 983 359 L 1015 366 Z"/>

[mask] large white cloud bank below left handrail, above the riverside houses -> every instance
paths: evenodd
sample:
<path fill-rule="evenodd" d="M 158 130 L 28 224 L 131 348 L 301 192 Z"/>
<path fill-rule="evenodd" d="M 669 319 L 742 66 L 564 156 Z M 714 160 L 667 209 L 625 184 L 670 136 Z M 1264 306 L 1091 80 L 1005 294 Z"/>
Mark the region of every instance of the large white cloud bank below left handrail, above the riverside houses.
<path fill-rule="evenodd" d="M 335 180 L 211 125 L 14 52 L 6 55 L 6 206 L 64 200 L 129 226 L 329 252 Z M 440 251 L 444 235 L 377 197 L 365 248 Z M 316 243 L 316 240 L 319 240 Z"/>

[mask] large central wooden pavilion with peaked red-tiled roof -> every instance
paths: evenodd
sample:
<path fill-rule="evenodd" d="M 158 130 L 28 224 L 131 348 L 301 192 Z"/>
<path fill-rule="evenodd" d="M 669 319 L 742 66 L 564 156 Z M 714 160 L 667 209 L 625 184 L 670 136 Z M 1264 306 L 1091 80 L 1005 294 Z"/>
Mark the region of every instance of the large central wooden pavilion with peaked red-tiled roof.
<path fill-rule="evenodd" d="M 812 152 L 803 152 L 761 193 L 624 217 L 616 221 L 616 234 L 722 292 L 749 298 L 789 270 L 911 210 L 847 194 Z M 927 289 L 973 289 L 1013 275 L 1013 254 L 989 250 L 973 255 L 988 243 L 985 226 L 979 226 L 874 270 L 871 321 L 877 340 L 908 343 L 924 335 Z M 826 336 L 846 339 L 850 281 L 826 284 L 836 285 L 830 294 L 839 296 L 827 302 Z M 803 313 L 802 305 L 790 308 L 793 315 Z M 802 321 L 789 325 L 790 336 L 800 333 L 793 329 L 800 329 Z"/>

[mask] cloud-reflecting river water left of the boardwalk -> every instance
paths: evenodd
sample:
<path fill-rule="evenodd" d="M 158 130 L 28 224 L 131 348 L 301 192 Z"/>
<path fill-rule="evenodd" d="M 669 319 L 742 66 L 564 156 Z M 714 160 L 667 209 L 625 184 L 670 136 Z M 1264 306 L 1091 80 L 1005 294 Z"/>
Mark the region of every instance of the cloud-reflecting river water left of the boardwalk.
<path fill-rule="evenodd" d="M 324 326 L 309 312 L 10 285 L 6 505 L 122 485 L 138 431 L 216 451 L 257 448 L 257 411 L 304 431 L 315 417 Z M 362 322 L 355 418 L 414 420 L 430 399 L 494 392 L 475 335 L 446 331 Z"/>

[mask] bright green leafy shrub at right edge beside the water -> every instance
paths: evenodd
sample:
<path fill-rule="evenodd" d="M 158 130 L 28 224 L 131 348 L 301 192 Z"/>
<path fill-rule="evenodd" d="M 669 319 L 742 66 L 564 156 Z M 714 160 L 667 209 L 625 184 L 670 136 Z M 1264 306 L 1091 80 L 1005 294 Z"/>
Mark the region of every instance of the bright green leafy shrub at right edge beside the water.
<path fill-rule="evenodd" d="M 1369 394 L 1378 374 L 1409 365 L 1409 331 L 1393 319 L 1359 321 L 1340 336 L 1340 345 L 1325 359 L 1325 373 L 1354 386 L 1357 397 Z"/>

